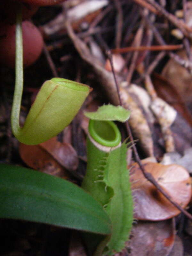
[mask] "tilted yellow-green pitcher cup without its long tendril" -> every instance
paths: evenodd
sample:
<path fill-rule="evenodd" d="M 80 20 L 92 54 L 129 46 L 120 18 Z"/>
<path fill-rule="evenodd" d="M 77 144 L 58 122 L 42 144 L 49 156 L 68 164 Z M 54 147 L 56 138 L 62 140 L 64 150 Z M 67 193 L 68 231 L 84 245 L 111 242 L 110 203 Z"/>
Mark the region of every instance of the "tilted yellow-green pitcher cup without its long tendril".
<path fill-rule="evenodd" d="M 45 81 L 15 137 L 28 145 L 49 140 L 73 120 L 89 91 L 89 86 L 64 78 Z"/>

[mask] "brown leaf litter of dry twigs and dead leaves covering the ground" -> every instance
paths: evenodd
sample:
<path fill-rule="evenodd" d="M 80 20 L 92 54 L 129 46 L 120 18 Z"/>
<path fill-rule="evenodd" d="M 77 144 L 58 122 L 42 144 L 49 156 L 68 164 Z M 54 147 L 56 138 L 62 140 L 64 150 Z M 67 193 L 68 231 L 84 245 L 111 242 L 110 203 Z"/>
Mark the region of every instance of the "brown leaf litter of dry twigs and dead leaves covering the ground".
<path fill-rule="evenodd" d="M 186 208 L 191 197 L 191 181 L 188 174 L 189 172 L 191 175 L 192 144 L 191 2 L 70 0 L 59 4 L 55 9 L 52 8 L 40 8 L 33 18 L 35 24 L 40 25 L 44 36 L 46 58 L 42 55 L 36 64 L 26 70 L 27 83 L 22 115 L 25 116 L 26 109 L 31 104 L 30 93 L 38 90 L 36 84 L 49 79 L 51 72 L 89 84 L 94 88 L 94 94 L 91 94 L 68 128 L 72 140 L 61 143 L 53 138 L 38 146 L 20 144 L 21 159 L 31 168 L 52 175 L 65 179 L 82 178 L 86 163 L 85 133 L 88 125 L 83 110 L 95 110 L 103 103 L 120 103 L 112 67 L 106 55 L 106 49 L 111 49 L 121 100 L 123 106 L 131 110 L 129 124 L 140 157 L 152 156 L 158 162 L 163 159 L 163 164 L 171 164 L 145 163 L 144 167 L 175 202 Z M 171 33 L 176 36 L 180 33 L 179 38 L 171 36 Z M 18 144 L 11 137 L 9 122 L 6 123 L 11 106 L 13 77 L 11 70 L 2 67 L 5 86 L 2 88 L 0 152 L 2 161 L 6 159 L 21 165 L 23 163 L 19 158 Z M 125 127 L 120 128 L 122 137 L 127 138 Z M 182 249 L 187 256 L 188 249 L 185 244 L 191 239 L 190 229 L 185 227 L 179 217 L 176 219 L 175 228 L 171 219 L 180 211 L 144 178 L 137 164 L 133 164 L 132 172 L 135 218 L 140 221 L 135 224 L 127 247 L 118 256 L 181 256 Z M 191 212 L 190 204 L 187 209 Z M 187 225 L 190 225 L 189 221 L 186 222 Z M 177 236 L 175 238 L 178 226 L 181 227 L 179 234 L 186 236 L 179 242 Z M 36 229 L 38 230 L 38 227 Z M 50 231 L 50 234 L 54 233 L 53 231 Z M 25 235 L 26 232 L 22 232 Z M 31 239 L 31 236 L 28 237 Z M 29 244 L 28 248 L 32 248 L 30 239 L 27 238 L 26 242 Z M 44 247 L 48 248 L 49 240 L 45 240 Z M 19 242 L 21 244 L 22 239 Z M 176 246 L 179 246 L 179 249 L 174 249 Z M 27 247 L 20 246 L 17 250 L 13 249 L 12 253 L 29 255 L 23 248 Z M 191 242 L 188 242 L 188 248 L 192 248 Z M 38 245 L 34 251 L 30 250 L 36 254 L 47 252 Z M 59 246 L 55 249 L 57 250 L 60 250 Z M 79 234 L 72 234 L 69 247 L 67 245 L 61 253 L 70 256 L 77 253 L 87 255 Z"/>

